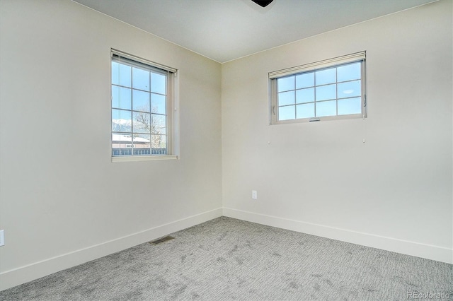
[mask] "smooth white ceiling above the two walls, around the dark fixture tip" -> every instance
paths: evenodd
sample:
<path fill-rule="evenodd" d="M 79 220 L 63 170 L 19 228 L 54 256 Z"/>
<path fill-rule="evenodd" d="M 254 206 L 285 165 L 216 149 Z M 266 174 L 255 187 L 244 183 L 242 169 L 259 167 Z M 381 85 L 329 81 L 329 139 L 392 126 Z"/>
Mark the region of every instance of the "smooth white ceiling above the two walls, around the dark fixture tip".
<path fill-rule="evenodd" d="M 74 0 L 221 63 L 433 0 Z M 437 1 L 437 0 L 436 0 Z"/>

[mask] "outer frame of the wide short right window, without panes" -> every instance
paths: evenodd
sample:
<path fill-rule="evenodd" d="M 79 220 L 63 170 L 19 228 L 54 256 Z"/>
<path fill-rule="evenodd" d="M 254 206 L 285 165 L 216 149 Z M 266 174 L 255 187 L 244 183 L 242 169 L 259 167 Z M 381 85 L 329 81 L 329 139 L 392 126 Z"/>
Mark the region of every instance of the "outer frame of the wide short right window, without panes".
<path fill-rule="evenodd" d="M 367 93 L 366 93 L 366 52 L 357 52 L 354 54 L 348 54 L 342 57 L 336 57 L 333 59 L 326 59 L 323 61 L 316 61 L 311 64 L 304 64 L 302 66 L 295 66 L 288 69 L 282 69 L 279 71 L 273 71 L 268 73 L 269 78 L 269 124 L 292 124 L 300 122 L 319 122 L 327 120 L 338 120 L 338 119 L 353 119 L 353 118 L 363 118 L 367 117 Z M 285 78 L 286 76 L 296 76 L 300 73 L 308 73 L 312 71 L 319 71 L 321 69 L 333 69 L 341 65 L 351 64 L 355 62 L 361 62 L 361 107 L 362 112 L 360 114 L 343 114 L 338 115 L 338 95 L 336 98 L 337 101 L 337 114 L 325 117 L 311 117 L 311 118 L 300 118 L 300 119 L 287 119 L 279 120 L 278 111 L 278 87 L 277 80 L 279 78 Z M 337 83 L 337 82 L 336 82 Z M 316 88 L 316 83 L 314 85 Z M 297 90 L 297 88 L 295 88 Z M 316 104 L 316 100 L 314 101 Z M 297 105 L 294 103 L 294 105 Z"/>

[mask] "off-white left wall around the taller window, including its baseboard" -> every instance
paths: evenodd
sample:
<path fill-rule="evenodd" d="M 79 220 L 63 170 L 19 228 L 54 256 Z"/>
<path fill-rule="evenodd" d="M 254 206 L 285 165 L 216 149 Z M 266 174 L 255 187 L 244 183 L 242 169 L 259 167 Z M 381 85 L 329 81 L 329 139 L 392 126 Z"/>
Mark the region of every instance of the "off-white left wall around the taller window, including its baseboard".
<path fill-rule="evenodd" d="M 0 289 L 222 215 L 220 64 L 71 1 L 0 13 Z M 179 69 L 180 160 L 110 162 L 110 48 Z"/>

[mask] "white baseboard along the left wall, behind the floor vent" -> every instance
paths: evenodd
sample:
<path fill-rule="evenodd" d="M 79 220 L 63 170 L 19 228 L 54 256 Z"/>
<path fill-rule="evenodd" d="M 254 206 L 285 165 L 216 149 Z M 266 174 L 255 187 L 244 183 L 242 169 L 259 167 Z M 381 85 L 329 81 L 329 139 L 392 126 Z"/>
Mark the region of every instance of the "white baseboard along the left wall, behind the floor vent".
<path fill-rule="evenodd" d="M 10 271 L 4 271 L 3 273 L 0 273 L 0 290 L 6 290 L 7 288 L 12 288 L 13 286 L 50 275 L 51 273 L 62 271 L 65 268 L 71 268 L 72 266 L 84 264 L 87 261 L 98 259 L 102 256 L 120 252 L 123 249 L 149 242 L 150 240 L 192 227 L 193 225 L 205 223 L 208 220 L 219 218 L 220 216 L 222 216 L 222 208 L 217 208 L 212 211 L 183 218 L 182 220 L 176 220 L 172 223 L 137 232 L 132 235 L 120 237 L 116 240 L 110 240 L 85 249 L 79 249 L 74 252 L 35 262 L 28 266 L 21 266 L 20 268 L 15 268 Z"/>

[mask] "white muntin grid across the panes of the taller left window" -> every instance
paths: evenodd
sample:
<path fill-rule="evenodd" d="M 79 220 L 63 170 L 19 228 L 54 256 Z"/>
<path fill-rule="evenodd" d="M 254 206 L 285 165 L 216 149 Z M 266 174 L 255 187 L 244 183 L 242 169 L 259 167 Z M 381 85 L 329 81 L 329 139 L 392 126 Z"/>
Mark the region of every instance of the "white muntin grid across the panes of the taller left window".
<path fill-rule="evenodd" d="M 113 110 L 121 110 L 121 111 L 125 111 L 125 112 L 130 112 L 131 114 L 131 126 L 130 126 L 130 131 L 113 131 L 112 129 L 112 156 L 137 156 L 137 155 L 168 155 L 168 149 L 169 149 L 169 135 L 171 134 L 169 132 L 169 120 L 168 120 L 168 114 L 169 114 L 169 111 L 170 111 L 170 106 L 169 106 L 169 101 L 168 101 L 168 97 L 169 97 L 169 91 L 170 91 L 170 88 L 171 88 L 171 82 L 169 81 L 169 77 L 171 75 L 171 73 L 169 71 L 165 71 L 165 70 L 162 70 L 162 69 L 158 69 L 154 66 L 149 66 L 147 64 L 144 64 L 142 62 L 138 62 L 138 61 L 133 61 L 132 59 L 128 59 L 128 58 L 123 58 L 123 57 L 120 57 L 116 54 L 113 54 L 113 57 L 115 57 L 115 59 L 112 59 L 112 61 L 110 62 L 110 65 L 113 65 L 113 62 L 117 63 L 117 64 L 123 64 L 125 66 L 130 66 L 130 77 L 131 77 L 131 82 L 130 82 L 130 86 L 127 86 L 127 85 L 120 85 L 120 84 L 116 84 L 116 83 L 113 83 L 113 78 L 112 78 L 112 81 L 111 81 L 111 87 L 113 86 L 116 86 L 116 87 L 119 87 L 119 88 L 127 88 L 127 89 L 130 89 L 130 107 L 131 107 L 131 110 L 127 110 L 127 109 L 123 109 L 123 108 L 120 108 L 120 107 L 114 107 L 113 104 L 111 104 L 111 112 L 113 113 Z M 142 89 L 139 89 L 139 88 L 133 88 L 134 84 L 133 84 L 133 69 L 134 68 L 137 68 L 137 69 L 142 69 L 144 71 L 147 71 L 149 72 L 149 91 L 147 90 L 142 90 Z M 160 74 L 162 76 L 165 76 L 165 90 L 166 90 L 166 94 L 162 94 L 162 93 L 156 93 L 156 92 L 152 92 L 151 91 L 151 73 L 156 73 L 156 74 Z M 110 90 L 112 90 L 112 88 L 110 88 Z M 149 95 L 149 112 L 147 111 L 140 111 L 140 110 L 134 110 L 134 98 L 133 98 L 133 91 L 134 90 L 137 90 L 137 91 L 141 91 L 141 92 L 144 92 L 144 93 L 148 93 Z M 152 112 L 152 103 L 151 103 L 151 95 L 161 95 L 161 96 L 164 96 L 165 97 L 165 107 L 166 107 L 166 113 L 165 114 L 161 114 L 161 113 L 153 113 Z M 112 96 L 112 100 L 113 100 L 113 96 Z M 149 132 L 147 133 L 143 133 L 143 132 L 139 132 L 136 129 L 136 126 L 134 126 L 134 112 L 138 112 L 138 113 L 144 113 L 144 114 L 149 114 L 149 117 L 150 117 L 150 125 L 149 125 Z M 152 131 L 152 125 L 151 125 L 151 120 L 152 120 L 152 115 L 159 115 L 159 116 L 162 116 L 165 118 L 165 122 L 164 122 L 164 126 L 165 126 L 165 134 L 156 134 L 156 133 L 153 133 Z M 113 124 L 113 114 L 112 114 L 112 124 Z M 138 126 L 137 126 L 138 127 Z M 120 141 L 120 143 L 118 144 L 126 144 L 126 146 L 132 146 L 130 148 L 126 147 L 126 148 L 113 148 L 113 135 L 123 135 L 125 136 L 125 134 L 130 134 L 130 138 L 131 138 L 131 141 L 124 141 L 124 143 L 121 143 L 123 141 Z M 139 137 L 139 135 L 148 135 L 149 136 L 149 148 L 137 148 L 137 151 L 136 151 L 136 148 L 135 146 L 139 145 L 140 143 L 134 143 L 134 138 L 137 138 Z M 161 137 L 164 137 L 164 148 L 153 148 L 153 136 L 161 136 Z M 147 151 L 146 151 L 147 150 Z"/>

